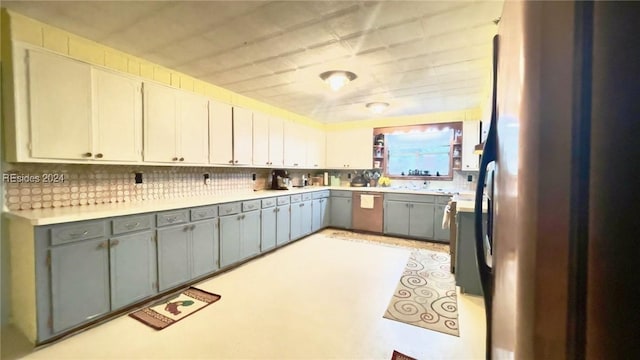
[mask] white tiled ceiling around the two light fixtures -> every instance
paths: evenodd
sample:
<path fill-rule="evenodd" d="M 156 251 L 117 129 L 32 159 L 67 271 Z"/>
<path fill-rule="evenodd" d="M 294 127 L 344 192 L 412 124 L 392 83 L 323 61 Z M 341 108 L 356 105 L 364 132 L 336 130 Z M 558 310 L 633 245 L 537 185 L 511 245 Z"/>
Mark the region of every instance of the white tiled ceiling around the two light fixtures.
<path fill-rule="evenodd" d="M 3 1 L 107 46 L 323 122 L 480 106 L 502 1 Z M 333 93 L 318 74 L 358 78 Z"/>

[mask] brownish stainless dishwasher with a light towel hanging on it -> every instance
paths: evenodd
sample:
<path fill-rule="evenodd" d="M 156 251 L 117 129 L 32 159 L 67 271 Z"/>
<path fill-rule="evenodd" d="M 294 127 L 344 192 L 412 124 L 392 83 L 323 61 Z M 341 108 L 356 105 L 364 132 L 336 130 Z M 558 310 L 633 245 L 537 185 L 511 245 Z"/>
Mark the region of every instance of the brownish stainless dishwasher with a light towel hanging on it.
<path fill-rule="evenodd" d="M 382 194 L 373 191 L 354 191 L 351 201 L 351 227 L 372 233 L 382 233 Z"/>

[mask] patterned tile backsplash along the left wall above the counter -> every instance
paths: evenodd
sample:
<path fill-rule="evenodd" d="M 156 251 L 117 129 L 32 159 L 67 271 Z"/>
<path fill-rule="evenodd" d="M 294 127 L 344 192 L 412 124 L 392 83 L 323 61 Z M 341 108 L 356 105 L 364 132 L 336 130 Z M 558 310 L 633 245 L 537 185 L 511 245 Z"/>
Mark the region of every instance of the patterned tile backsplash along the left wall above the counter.
<path fill-rule="evenodd" d="M 136 172 L 142 173 L 141 184 L 135 183 Z M 11 174 L 39 181 L 12 182 Z M 44 182 L 44 174 L 64 181 Z M 7 164 L 3 180 L 8 210 L 28 210 L 252 192 L 266 188 L 268 174 L 252 168 Z"/>

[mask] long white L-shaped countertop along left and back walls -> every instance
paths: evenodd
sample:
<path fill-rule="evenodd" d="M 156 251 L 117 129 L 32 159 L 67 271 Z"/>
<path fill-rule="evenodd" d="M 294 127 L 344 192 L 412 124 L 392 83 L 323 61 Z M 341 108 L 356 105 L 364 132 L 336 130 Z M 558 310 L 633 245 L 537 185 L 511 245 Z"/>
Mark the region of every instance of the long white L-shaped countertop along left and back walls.
<path fill-rule="evenodd" d="M 294 195 L 320 190 L 370 191 L 382 193 L 406 193 L 416 195 L 448 194 L 433 190 L 398 189 L 390 187 L 337 187 L 307 186 L 289 190 L 261 190 L 256 192 L 236 193 L 229 195 L 207 195 L 181 199 L 144 200 L 141 202 L 122 202 L 97 205 L 67 206 L 61 208 L 16 210 L 5 212 L 7 216 L 29 222 L 31 225 L 51 225 L 65 222 L 102 219 L 114 216 L 134 215 L 147 212 L 175 210 L 196 206 L 213 205 L 234 201 L 254 200 L 274 196 Z M 471 205 L 473 207 L 473 204 Z M 459 208 L 458 208 L 459 209 Z M 458 210 L 461 211 L 461 210 Z M 473 209 L 471 210 L 473 211 Z"/>

